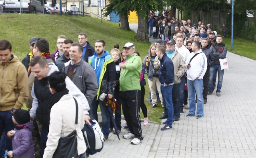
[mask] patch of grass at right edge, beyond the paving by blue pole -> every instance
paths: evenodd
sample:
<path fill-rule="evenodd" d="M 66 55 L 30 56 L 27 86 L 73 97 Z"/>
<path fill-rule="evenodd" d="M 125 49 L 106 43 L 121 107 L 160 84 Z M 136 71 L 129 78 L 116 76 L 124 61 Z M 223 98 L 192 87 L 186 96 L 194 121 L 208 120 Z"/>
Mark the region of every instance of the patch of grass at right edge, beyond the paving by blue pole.
<path fill-rule="evenodd" d="M 224 38 L 223 42 L 226 44 L 228 51 L 256 60 L 256 42 L 234 37 L 234 50 L 231 50 L 230 37 Z"/>

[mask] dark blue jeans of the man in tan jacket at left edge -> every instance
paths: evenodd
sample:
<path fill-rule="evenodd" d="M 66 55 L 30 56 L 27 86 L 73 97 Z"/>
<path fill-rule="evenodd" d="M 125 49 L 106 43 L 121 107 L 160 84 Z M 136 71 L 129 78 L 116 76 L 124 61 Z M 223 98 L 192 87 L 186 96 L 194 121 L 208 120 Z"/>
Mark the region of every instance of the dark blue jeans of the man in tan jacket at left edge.
<path fill-rule="evenodd" d="M 12 122 L 12 113 L 9 111 L 0 111 L 0 136 L 3 132 L 8 132 L 14 129 L 14 123 Z M 5 139 L 6 148 L 12 150 L 12 139 Z"/>

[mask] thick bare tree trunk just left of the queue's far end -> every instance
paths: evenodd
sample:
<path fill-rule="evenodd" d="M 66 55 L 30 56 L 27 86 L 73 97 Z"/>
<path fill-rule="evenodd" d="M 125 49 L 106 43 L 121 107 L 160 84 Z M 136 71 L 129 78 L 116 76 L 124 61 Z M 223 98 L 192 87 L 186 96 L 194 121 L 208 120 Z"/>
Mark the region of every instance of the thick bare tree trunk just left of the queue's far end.
<path fill-rule="evenodd" d="M 149 38 L 148 38 L 148 34 L 147 34 L 147 30 L 148 30 L 148 21 L 147 18 L 145 18 L 144 16 L 138 15 L 138 30 L 137 30 L 137 34 L 135 36 L 135 40 L 137 41 L 143 41 L 143 42 L 148 42 Z"/>

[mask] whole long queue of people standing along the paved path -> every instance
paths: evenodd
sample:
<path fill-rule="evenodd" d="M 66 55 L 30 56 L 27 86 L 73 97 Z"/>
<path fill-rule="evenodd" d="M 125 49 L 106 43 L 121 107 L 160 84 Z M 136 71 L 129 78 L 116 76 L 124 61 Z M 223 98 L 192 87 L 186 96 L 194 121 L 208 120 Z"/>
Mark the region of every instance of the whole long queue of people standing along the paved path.
<path fill-rule="evenodd" d="M 184 114 L 183 108 L 189 109 L 186 117 L 197 114 L 196 118 L 202 118 L 207 95 L 216 87 L 217 73 L 216 95 L 221 96 L 224 70 L 219 59 L 226 58 L 227 53 L 222 36 L 210 24 L 206 28 L 202 22 L 191 24 L 190 19 L 179 23 L 170 16 L 151 14 L 148 24 L 149 36 L 159 39 L 143 61 L 131 42 L 122 47 L 122 52 L 118 44 L 108 52 L 104 40 L 96 40 L 93 46 L 85 33 L 78 35 L 77 43 L 58 36 L 58 49 L 52 54 L 45 38 L 33 37 L 22 62 L 12 53 L 12 44 L 0 40 L 1 156 L 7 150 L 9 157 L 51 158 L 59 139 L 74 130 L 79 138 L 79 157 L 88 156 L 81 129 L 84 123 L 90 125 L 91 119 L 98 121 L 98 106 L 104 141 L 114 127 L 105 98 L 114 98 L 122 106 L 124 128 L 128 129 L 123 138 L 140 144 L 144 138 L 140 108 L 143 125 L 148 126 L 145 74 L 152 107 L 160 101 L 164 110 L 160 119 L 166 121 L 161 130 L 171 129 L 172 122 Z M 21 110 L 24 103 L 28 111 Z M 114 134 L 120 133 L 120 109 L 115 113 L 115 123 L 118 130 Z"/>

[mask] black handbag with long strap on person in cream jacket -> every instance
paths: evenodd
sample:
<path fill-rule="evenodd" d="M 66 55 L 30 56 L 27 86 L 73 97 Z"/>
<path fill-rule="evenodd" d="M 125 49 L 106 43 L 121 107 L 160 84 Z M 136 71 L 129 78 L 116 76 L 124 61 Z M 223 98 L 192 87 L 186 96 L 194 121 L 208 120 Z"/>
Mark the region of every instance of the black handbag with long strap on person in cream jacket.
<path fill-rule="evenodd" d="M 76 99 L 76 124 L 78 124 L 78 104 Z M 68 136 L 60 138 L 52 158 L 78 158 L 76 130 Z"/>

